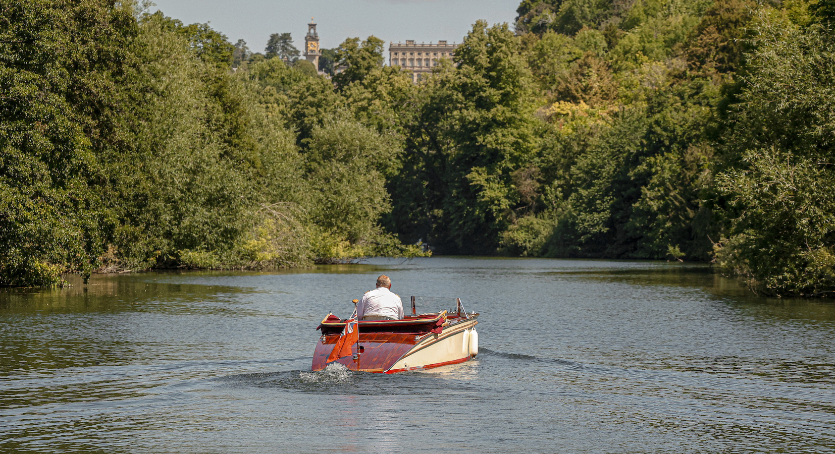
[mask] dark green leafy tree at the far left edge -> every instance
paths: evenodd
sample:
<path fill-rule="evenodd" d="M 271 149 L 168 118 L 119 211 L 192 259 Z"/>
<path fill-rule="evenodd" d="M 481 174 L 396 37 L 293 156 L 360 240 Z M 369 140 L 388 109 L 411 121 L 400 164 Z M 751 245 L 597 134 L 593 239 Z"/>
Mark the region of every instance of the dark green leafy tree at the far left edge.
<path fill-rule="evenodd" d="M 133 12 L 11 0 L 0 23 L 0 285 L 86 280 L 113 224 L 94 150 L 114 139 L 109 77 L 133 64 Z"/>

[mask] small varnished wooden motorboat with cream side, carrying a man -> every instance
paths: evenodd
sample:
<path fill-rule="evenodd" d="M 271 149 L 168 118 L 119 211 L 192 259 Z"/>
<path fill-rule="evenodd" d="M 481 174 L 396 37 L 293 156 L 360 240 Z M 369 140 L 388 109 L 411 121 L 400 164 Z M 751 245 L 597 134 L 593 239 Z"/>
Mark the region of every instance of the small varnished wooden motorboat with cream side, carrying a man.
<path fill-rule="evenodd" d="M 356 301 L 356 300 L 355 300 Z M 416 314 L 412 296 L 412 315 L 403 320 L 360 320 L 359 336 L 352 346 L 352 356 L 337 361 L 352 371 L 392 374 L 419 371 L 438 366 L 468 361 L 478 354 L 478 314 L 463 310 L 460 299 L 457 307 L 428 314 Z M 313 371 L 328 366 L 337 340 L 348 320 L 328 314 L 316 330 L 321 337 L 313 353 Z"/>

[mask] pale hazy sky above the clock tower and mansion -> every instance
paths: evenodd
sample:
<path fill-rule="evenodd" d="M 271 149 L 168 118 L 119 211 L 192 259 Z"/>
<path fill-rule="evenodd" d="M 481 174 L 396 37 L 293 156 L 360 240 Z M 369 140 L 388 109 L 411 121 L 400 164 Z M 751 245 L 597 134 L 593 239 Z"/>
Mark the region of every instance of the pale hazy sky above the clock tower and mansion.
<path fill-rule="evenodd" d="M 264 52 L 271 33 L 290 32 L 301 49 L 311 16 L 321 48 L 345 38 L 374 35 L 386 43 L 446 39 L 460 43 L 478 19 L 512 25 L 520 0 L 152 0 L 166 16 L 183 23 L 210 23 L 230 42 L 243 38 Z M 388 45 L 386 45 L 388 49 Z"/>

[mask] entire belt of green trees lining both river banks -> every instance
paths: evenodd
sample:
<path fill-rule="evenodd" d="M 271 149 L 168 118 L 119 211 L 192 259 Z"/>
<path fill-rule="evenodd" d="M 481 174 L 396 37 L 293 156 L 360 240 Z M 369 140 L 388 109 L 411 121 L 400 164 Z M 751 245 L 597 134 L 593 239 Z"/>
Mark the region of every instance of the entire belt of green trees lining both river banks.
<path fill-rule="evenodd" d="M 313 68 L 289 33 L 253 54 L 125 3 L 13 0 L 0 284 L 423 242 L 835 295 L 833 5 L 525 0 L 416 84 L 373 36 Z"/>

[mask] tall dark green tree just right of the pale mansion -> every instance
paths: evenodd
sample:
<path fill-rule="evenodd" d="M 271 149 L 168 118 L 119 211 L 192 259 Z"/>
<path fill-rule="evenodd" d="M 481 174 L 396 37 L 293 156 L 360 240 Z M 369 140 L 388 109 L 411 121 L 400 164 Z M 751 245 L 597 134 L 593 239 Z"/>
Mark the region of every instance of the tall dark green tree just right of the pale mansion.
<path fill-rule="evenodd" d="M 407 125 L 395 222 L 439 250 L 495 252 L 519 208 L 512 173 L 532 164 L 537 144 L 533 81 L 519 51 L 507 24 L 478 21 L 456 50 L 458 69 L 428 78 Z"/>

